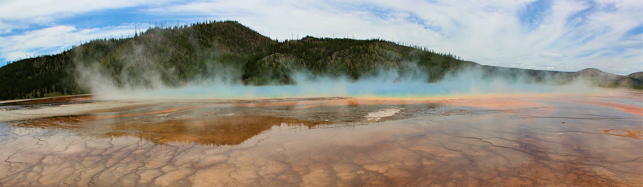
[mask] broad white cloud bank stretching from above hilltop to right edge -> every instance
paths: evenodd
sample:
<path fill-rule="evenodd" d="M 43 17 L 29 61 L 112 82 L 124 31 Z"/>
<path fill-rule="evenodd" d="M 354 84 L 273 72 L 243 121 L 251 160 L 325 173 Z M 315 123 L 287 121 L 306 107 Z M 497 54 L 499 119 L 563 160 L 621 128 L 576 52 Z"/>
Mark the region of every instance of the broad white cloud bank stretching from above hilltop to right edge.
<path fill-rule="evenodd" d="M 553 1 L 539 25 L 525 30 L 519 14 L 532 2 L 199 1 L 149 11 L 235 19 L 273 39 L 297 34 L 379 37 L 430 46 L 481 64 L 559 71 L 598 67 L 620 74 L 643 71 L 641 37 L 624 39 L 627 31 L 643 24 L 642 3 L 600 1 L 592 6 L 583 1 Z M 610 8 L 614 10 L 606 10 Z M 624 46 L 635 50 L 606 54 Z M 611 60 L 622 67 L 616 68 Z M 560 65 L 563 62 L 565 66 Z"/>

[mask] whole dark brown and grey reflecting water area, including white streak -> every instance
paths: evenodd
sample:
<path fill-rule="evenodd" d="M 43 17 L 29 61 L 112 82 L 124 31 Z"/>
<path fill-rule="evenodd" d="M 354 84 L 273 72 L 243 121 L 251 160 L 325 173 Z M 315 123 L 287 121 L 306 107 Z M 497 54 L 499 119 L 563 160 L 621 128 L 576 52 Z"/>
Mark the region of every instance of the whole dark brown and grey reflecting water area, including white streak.
<path fill-rule="evenodd" d="M 331 127 L 399 120 L 440 106 L 435 103 L 349 103 L 351 104 L 337 105 L 324 102 L 254 101 L 196 105 L 190 102 L 170 102 L 143 105 L 125 111 L 34 118 L 11 121 L 9 124 L 14 127 L 64 129 L 99 137 L 132 136 L 161 144 L 221 146 L 239 145 L 273 127 L 313 129 L 320 125 Z"/>

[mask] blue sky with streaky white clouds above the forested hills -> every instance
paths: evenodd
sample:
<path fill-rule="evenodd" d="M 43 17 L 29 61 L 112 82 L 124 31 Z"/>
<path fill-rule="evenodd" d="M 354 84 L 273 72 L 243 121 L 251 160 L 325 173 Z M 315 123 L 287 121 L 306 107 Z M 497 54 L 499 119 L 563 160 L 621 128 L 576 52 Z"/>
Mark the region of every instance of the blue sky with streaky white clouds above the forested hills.
<path fill-rule="evenodd" d="M 384 39 L 478 64 L 643 71 L 643 1 L 0 0 L 0 66 L 150 26 L 235 20 L 271 39 Z"/>

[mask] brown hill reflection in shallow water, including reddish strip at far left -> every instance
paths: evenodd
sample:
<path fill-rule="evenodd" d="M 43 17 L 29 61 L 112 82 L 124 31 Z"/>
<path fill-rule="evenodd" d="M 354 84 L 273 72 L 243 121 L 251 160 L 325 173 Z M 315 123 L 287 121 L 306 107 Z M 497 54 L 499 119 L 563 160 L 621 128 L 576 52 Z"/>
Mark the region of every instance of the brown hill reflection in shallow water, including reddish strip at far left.
<path fill-rule="evenodd" d="M 209 116 L 162 120 L 148 123 L 109 123 L 95 121 L 91 115 L 55 116 L 30 120 L 9 121 L 14 127 L 45 130 L 71 130 L 102 137 L 138 136 L 155 143 L 198 143 L 221 146 L 239 145 L 262 132 L 285 125 L 305 126 L 309 129 L 328 121 L 308 121 L 273 116 Z M 152 117 L 153 118 L 153 117 Z"/>

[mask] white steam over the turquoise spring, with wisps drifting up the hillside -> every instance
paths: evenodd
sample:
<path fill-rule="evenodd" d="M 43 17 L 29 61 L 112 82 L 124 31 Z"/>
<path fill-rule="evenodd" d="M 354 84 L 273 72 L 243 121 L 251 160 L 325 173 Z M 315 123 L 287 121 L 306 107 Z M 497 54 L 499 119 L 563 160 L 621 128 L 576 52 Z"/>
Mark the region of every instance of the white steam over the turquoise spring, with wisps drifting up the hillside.
<path fill-rule="evenodd" d="M 204 72 L 190 80 L 178 78 L 174 67 L 159 63 L 163 58 L 146 58 L 145 47 L 132 44 L 132 51 L 121 57 L 120 71 L 110 73 L 107 62 L 79 62 L 77 82 L 101 100 L 162 99 L 265 99 L 308 97 L 387 97 L 426 98 L 480 94 L 591 93 L 596 91 L 583 78 L 566 80 L 558 75 L 540 80 L 515 72 L 493 73 L 482 66 L 470 66 L 447 73 L 440 82 L 429 83 L 429 73 L 415 62 L 398 68 L 381 68 L 359 80 L 347 77 L 291 73 L 294 85 L 244 85 L 242 68 L 212 61 Z M 215 59 L 215 58 L 213 58 Z M 162 62 L 162 61 L 161 61 Z M 228 64 L 228 65 L 226 65 Z M 512 76 L 507 76 L 512 75 Z M 178 84 L 170 84 L 178 83 Z M 562 85 L 561 85 L 562 84 Z"/>

